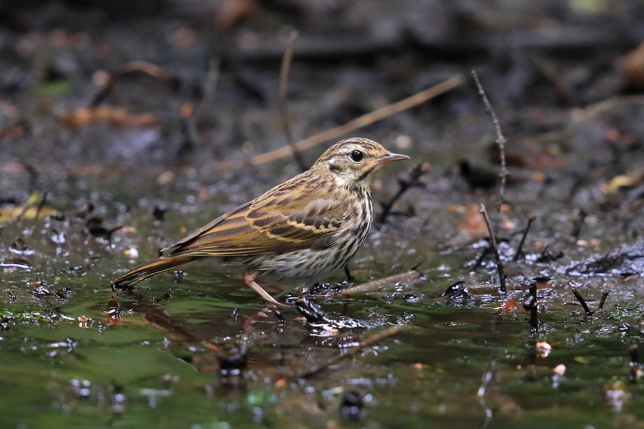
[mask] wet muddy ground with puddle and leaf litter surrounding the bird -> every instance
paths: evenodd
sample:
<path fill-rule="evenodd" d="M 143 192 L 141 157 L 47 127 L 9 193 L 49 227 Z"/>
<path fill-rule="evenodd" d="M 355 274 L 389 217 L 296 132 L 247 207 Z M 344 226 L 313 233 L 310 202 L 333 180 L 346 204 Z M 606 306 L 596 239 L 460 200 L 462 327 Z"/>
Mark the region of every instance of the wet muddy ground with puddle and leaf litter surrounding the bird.
<path fill-rule="evenodd" d="M 641 5 L 29 3 L 0 6 L 3 427 L 644 427 Z M 412 156 L 375 207 L 413 185 L 354 282 L 285 287 L 279 313 L 212 264 L 113 293 L 298 172 L 235 162 L 287 143 L 292 28 L 294 140 L 464 76 L 351 132 Z M 502 205 L 471 68 L 507 137 Z"/>

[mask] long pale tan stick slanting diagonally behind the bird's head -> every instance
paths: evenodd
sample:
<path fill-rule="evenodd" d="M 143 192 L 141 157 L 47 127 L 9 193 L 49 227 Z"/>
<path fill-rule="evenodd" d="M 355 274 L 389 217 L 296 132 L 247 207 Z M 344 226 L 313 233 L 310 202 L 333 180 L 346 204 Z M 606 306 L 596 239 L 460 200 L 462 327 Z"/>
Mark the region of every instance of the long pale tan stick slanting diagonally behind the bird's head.
<path fill-rule="evenodd" d="M 245 160 L 222 161 L 218 163 L 216 167 L 220 170 L 230 170 L 236 169 L 238 167 L 243 167 L 244 165 L 260 165 L 271 161 L 281 160 L 281 158 L 292 155 L 293 148 L 297 149 L 298 151 L 305 151 L 306 149 L 310 149 L 311 147 L 319 145 L 320 143 L 324 143 L 325 141 L 334 140 L 336 138 L 339 138 L 340 136 L 348 134 L 349 132 L 353 132 L 362 127 L 366 127 L 367 125 L 371 125 L 374 122 L 386 118 L 387 116 L 391 116 L 392 114 L 402 112 L 404 110 L 410 109 L 411 107 L 414 107 L 415 105 L 419 105 L 428 100 L 431 100 L 431 98 L 439 96 L 442 93 L 450 91 L 450 89 L 454 89 L 455 87 L 462 85 L 463 82 L 464 78 L 462 77 L 462 75 L 456 75 L 449 78 L 448 80 L 445 80 L 444 82 L 441 82 L 438 85 L 432 86 L 431 88 L 425 89 L 424 91 L 409 96 L 408 98 L 404 98 L 403 100 L 400 100 L 398 102 L 380 107 L 379 109 L 375 109 L 370 113 L 358 116 L 357 118 L 350 120 L 343 125 L 339 125 L 338 127 L 319 132 L 308 138 L 305 138 L 304 140 L 300 140 L 297 143 L 294 143 L 293 147 L 286 145 L 280 147 L 279 149 L 275 149 L 274 151 L 265 152 L 263 154 L 253 156 L 252 158 L 247 158 Z"/>

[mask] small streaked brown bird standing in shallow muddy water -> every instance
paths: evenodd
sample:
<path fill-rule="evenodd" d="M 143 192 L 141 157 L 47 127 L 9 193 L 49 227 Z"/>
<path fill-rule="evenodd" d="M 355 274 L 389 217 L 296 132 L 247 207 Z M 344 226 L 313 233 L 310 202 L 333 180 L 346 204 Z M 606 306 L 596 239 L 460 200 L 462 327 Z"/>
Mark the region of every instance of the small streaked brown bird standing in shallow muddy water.
<path fill-rule="evenodd" d="M 221 266 L 241 268 L 247 286 L 280 306 L 258 278 L 312 278 L 345 267 L 372 224 L 370 174 L 408 159 L 368 138 L 339 141 L 307 171 L 160 250 L 158 259 L 112 280 L 112 289 L 213 258 Z"/>

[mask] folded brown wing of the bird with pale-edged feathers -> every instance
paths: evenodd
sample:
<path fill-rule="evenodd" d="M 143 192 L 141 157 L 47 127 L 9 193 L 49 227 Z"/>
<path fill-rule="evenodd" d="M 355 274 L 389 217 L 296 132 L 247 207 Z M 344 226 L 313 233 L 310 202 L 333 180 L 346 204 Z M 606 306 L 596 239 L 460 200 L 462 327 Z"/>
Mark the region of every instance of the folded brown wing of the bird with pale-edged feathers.
<path fill-rule="evenodd" d="M 329 235 L 342 227 L 346 210 L 343 201 L 315 198 L 314 193 L 267 192 L 165 251 L 167 255 L 250 256 L 327 248 Z"/>

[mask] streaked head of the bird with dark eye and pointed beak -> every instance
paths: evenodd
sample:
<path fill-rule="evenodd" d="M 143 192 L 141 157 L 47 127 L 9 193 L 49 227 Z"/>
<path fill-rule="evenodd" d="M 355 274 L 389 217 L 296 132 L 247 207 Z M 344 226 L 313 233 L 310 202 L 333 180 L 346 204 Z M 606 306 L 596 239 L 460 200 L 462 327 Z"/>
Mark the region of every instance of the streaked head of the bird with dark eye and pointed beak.
<path fill-rule="evenodd" d="M 328 169 L 337 185 L 354 185 L 368 180 L 369 173 L 386 163 L 408 160 L 368 138 L 353 137 L 327 149 L 313 168 Z"/>

